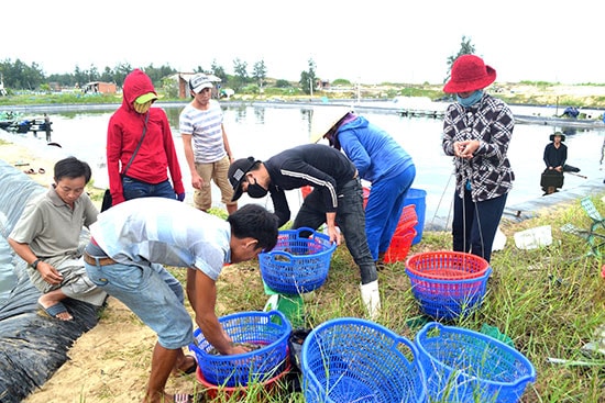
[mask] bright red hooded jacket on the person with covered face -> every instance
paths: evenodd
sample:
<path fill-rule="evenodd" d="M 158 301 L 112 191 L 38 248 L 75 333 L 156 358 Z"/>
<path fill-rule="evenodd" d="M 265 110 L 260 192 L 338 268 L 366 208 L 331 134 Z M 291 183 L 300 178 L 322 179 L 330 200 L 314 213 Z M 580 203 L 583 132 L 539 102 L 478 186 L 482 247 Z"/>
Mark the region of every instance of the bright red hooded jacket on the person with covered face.
<path fill-rule="evenodd" d="M 145 138 L 127 176 L 156 184 L 168 179 L 169 170 L 175 193 L 185 192 L 166 113 L 161 108 L 150 108 L 146 114 L 140 114 L 132 105 L 140 96 L 147 92 L 155 93 L 151 78 L 140 69 L 135 69 L 124 79 L 122 91 L 122 105 L 111 115 L 107 130 L 107 170 L 113 205 L 124 201 L 121 172 L 141 139 L 147 114 Z"/>

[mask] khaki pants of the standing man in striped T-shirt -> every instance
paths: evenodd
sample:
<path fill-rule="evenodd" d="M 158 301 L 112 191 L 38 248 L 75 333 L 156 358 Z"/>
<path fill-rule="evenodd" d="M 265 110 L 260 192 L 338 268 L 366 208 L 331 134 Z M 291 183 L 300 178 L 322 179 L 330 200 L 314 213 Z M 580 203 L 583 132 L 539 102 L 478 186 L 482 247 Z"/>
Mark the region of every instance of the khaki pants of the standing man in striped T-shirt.
<path fill-rule="evenodd" d="M 232 202 L 233 188 L 228 179 L 229 171 L 229 157 L 209 164 L 197 164 L 196 171 L 204 180 L 201 189 L 196 189 L 194 192 L 194 204 L 196 209 L 208 211 L 212 206 L 212 189 L 210 187 L 210 180 L 215 181 L 215 184 L 221 191 L 221 202 L 226 205 L 234 205 L 238 202 Z"/>

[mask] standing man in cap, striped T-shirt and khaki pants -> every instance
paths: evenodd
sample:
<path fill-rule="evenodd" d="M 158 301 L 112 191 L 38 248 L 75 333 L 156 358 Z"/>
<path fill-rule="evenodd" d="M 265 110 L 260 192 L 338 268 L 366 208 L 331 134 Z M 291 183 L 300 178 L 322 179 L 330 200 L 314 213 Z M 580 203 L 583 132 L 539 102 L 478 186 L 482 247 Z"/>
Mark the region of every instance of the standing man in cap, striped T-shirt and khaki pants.
<path fill-rule="evenodd" d="M 195 189 L 194 204 L 201 211 L 212 206 L 213 180 L 221 191 L 221 201 L 229 214 L 238 210 L 232 201 L 233 188 L 227 179 L 233 154 L 222 123 L 222 110 L 212 98 L 212 81 L 198 74 L 189 80 L 191 102 L 179 116 L 179 131 L 185 147 L 185 158 L 191 171 L 191 186 Z"/>

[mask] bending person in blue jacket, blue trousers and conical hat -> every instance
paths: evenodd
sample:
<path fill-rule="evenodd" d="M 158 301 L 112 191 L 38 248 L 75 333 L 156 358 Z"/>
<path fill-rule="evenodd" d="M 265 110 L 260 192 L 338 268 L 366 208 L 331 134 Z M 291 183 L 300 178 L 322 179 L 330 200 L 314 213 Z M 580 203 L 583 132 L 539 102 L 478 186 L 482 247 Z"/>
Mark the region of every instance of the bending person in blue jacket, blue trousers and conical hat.
<path fill-rule="evenodd" d="M 346 107 L 316 108 L 311 143 L 321 138 L 342 149 L 360 177 L 372 183 L 365 206 L 365 233 L 372 257 L 382 265 L 416 177 L 411 156 L 391 134 Z"/>

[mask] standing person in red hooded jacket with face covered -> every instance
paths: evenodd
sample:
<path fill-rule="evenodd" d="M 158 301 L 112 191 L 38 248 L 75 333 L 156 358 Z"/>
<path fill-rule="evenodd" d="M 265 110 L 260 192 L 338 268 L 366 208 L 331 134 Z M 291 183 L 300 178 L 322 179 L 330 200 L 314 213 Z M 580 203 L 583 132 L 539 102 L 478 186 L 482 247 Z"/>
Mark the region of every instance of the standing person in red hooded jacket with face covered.
<path fill-rule="evenodd" d="M 111 115 L 107 131 L 112 205 L 148 197 L 185 200 L 168 117 L 163 109 L 152 108 L 157 93 L 151 78 L 134 69 L 124 79 L 122 92 L 122 105 Z"/>

